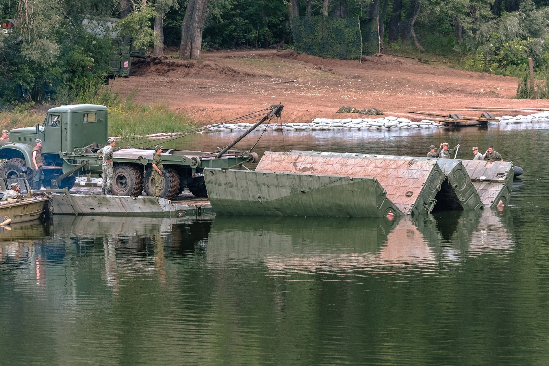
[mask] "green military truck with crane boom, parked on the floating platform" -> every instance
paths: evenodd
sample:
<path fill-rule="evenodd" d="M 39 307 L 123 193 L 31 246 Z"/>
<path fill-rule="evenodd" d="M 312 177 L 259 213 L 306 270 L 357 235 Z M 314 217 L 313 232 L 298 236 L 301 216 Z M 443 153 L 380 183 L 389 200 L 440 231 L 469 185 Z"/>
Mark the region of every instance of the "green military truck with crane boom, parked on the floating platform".
<path fill-rule="evenodd" d="M 282 105 L 271 106 L 271 111 L 254 126 L 259 126 L 268 117 L 279 116 L 282 108 Z M 70 189 L 74 186 L 76 174 L 102 173 L 103 160 L 97 150 L 107 143 L 108 121 L 108 110 L 103 105 L 62 105 L 48 110 L 42 124 L 10 131 L 10 143 L 0 147 L 0 159 L 8 159 L 0 169 L 0 178 L 21 177 L 25 172 L 27 179 L 32 177 L 32 148 L 37 138 L 43 142 L 44 187 Z M 257 162 L 255 153 L 229 150 L 252 129 L 215 153 L 163 149 L 160 196 L 172 199 L 188 188 L 195 196 L 206 197 L 205 167 L 242 167 L 245 162 Z M 137 196 L 143 190 L 147 195 L 153 195 L 153 153 L 152 148 L 122 148 L 115 151 L 114 195 Z"/>

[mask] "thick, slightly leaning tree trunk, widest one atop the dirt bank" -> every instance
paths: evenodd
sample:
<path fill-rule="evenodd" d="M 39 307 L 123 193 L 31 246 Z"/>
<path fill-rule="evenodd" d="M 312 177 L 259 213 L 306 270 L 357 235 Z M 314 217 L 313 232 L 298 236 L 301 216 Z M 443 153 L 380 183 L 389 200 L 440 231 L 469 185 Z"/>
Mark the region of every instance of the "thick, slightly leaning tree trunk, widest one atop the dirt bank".
<path fill-rule="evenodd" d="M 187 4 L 187 10 L 181 23 L 179 57 L 182 59 L 198 59 L 200 57 L 207 3 L 208 0 L 189 0 Z"/>

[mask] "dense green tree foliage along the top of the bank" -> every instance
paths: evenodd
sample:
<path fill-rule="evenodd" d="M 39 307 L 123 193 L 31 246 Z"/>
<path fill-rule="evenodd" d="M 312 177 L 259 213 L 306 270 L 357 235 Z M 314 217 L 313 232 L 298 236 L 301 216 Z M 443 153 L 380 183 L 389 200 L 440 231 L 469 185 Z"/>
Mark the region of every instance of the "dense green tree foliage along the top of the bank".
<path fill-rule="evenodd" d="M 506 75 L 522 75 L 532 57 L 536 72 L 545 74 L 548 69 L 547 0 L 200 1 L 208 7 L 201 40 L 206 49 L 292 47 L 290 16 L 328 14 L 379 20 L 383 47 L 393 53 L 424 50 L 451 55 L 463 60 L 467 69 Z M 86 30 L 84 18 L 123 18 L 115 27 L 132 33 L 136 46 L 158 46 L 162 39 L 165 46 L 179 46 L 188 4 L 189 0 L 0 0 L 0 18 L 17 22 L 15 32 L 0 34 L 0 105 L 70 102 L 104 82 L 109 37 Z M 377 39 L 369 39 L 363 51 L 371 54 L 378 46 Z"/>

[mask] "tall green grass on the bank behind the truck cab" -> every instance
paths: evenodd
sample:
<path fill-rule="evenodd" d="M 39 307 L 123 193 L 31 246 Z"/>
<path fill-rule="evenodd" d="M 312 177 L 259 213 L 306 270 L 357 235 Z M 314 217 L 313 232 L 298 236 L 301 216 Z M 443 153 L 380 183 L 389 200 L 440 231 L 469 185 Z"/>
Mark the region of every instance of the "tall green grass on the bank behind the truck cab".
<path fill-rule="evenodd" d="M 107 87 L 98 91 L 88 89 L 81 92 L 72 102 L 65 104 L 100 104 L 109 108 L 109 136 L 123 137 L 127 139 L 145 136 L 153 133 L 181 131 L 183 129 L 199 126 L 189 116 L 176 113 L 164 105 L 139 105 L 133 102 L 136 91 L 130 93 L 126 100 L 121 100 L 120 95 L 111 92 Z M 64 100 L 63 102 L 66 102 Z M 63 104 L 63 103 L 60 103 Z M 46 116 L 46 109 L 14 109 L 10 112 L 0 113 L 3 121 L 2 129 L 15 127 L 31 127 L 36 123 L 42 124 Z"/>

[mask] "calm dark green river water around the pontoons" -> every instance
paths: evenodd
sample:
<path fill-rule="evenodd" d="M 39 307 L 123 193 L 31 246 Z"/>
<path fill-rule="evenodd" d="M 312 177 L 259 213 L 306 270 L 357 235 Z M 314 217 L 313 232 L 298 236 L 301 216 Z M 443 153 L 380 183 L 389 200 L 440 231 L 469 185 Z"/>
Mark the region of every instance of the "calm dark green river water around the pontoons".
<path fill-rule="evenodd" d="M 256 148 L 424 156 L 447 141 L 465 158 L 494 144 L 525 171 L 502 213 L 0 229 L 0 364 L 546 365 L 549 125 L 531 127 L 265 133 Z"/>

